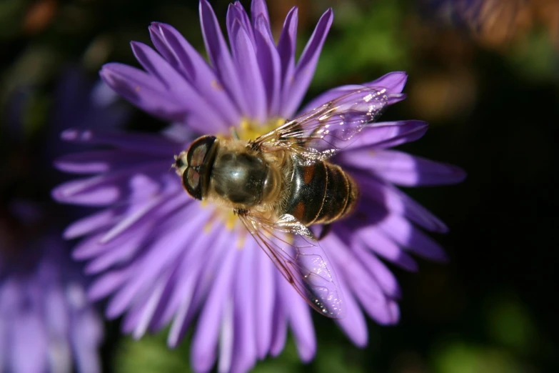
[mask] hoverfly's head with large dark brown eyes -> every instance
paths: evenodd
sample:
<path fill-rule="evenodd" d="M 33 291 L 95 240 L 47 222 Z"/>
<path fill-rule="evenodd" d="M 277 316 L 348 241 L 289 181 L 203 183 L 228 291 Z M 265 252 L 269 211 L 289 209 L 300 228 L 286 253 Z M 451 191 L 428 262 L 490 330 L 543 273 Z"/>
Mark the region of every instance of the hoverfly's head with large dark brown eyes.
<path fill-rule="evenodd" d="M 201 136 L 194 140 L 187 151 L 175 157 L 173 166 L 181 176 L 186 192 L 193 198 L 202 199 L 209 181 L 211 166 L 216 154 L 216 136 Z"/>

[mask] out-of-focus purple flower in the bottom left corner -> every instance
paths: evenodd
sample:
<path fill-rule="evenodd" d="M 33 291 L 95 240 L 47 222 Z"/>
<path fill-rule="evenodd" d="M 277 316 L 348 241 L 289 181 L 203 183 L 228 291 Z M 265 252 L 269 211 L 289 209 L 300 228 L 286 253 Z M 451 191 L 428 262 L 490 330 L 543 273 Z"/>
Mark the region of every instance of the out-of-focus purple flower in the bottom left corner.
<path fill-rule="evenodd" d="M 22 220 L 38 210 L 12 204 Z M 39 212 L 40 214 L 41 212 Z M 38 234 L 0 221 L 0 370 L 99 372 L 103 326 L 84 277 L 56 231 Z"/>

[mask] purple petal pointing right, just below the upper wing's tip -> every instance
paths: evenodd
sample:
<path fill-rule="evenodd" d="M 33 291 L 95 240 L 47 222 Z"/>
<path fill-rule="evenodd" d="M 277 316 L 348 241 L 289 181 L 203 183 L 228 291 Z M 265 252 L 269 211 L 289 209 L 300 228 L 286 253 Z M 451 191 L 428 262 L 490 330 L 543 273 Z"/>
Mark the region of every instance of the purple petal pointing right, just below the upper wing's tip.
<path fill-rule="evenodd" d="M 365 126 L 357 139 L 343 151 L 359 148 L 386 149 L 407 142 L 416 141 L 428 128 L 425 121 L 381 121 Z"/>

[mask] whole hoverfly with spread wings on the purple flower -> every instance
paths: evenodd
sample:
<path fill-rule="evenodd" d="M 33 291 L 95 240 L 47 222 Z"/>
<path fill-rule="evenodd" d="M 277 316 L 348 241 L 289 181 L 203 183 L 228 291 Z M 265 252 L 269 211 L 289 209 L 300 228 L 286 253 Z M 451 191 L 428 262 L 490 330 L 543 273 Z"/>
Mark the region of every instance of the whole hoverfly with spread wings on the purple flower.
<path fill-rule="evenodd" d="M 256 139 L 201 136 L 173 164 L 191 197 L 232 209 L 296 291 L 332 318 L 343 316 L 341 291 L 309 227 L 355 209 L 358 185 L 328 159 L 371 126 L 389 97 L 357 87 Z"/>

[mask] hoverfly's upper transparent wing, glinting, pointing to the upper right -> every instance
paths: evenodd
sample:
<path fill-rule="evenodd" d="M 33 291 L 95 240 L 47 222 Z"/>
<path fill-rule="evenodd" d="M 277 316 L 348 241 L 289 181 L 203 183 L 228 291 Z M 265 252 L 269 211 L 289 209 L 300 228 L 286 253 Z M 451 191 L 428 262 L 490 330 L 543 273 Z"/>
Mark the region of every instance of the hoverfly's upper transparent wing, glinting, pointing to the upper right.
<path fill-rule="evenodd" d="M 286 121 L 250 145 L 261 151 L 291 149 L 308 164 L 328 159 L 343 148 L 344 141 L 378 119 L 388 98 L 386 89 L 362 86 Z"/>

